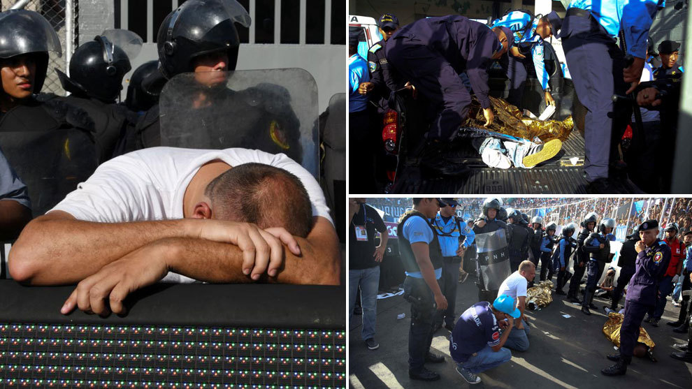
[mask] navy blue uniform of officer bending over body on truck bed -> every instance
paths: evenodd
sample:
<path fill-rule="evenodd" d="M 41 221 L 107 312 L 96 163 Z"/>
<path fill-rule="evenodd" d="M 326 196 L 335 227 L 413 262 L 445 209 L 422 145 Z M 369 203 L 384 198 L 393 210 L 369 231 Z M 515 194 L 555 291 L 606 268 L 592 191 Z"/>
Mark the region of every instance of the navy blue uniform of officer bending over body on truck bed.
<path fill-rule="evenodd" d="M 490 107 L 487 68 L 502 48 L 489 27 L 459 15 L 417 20 L 389 38 L 389 64 L 430 101 L 428 139 L 453 138 L 468 114 L 471 97 L 459 73 L 468 74 L 482 108 Z"/>

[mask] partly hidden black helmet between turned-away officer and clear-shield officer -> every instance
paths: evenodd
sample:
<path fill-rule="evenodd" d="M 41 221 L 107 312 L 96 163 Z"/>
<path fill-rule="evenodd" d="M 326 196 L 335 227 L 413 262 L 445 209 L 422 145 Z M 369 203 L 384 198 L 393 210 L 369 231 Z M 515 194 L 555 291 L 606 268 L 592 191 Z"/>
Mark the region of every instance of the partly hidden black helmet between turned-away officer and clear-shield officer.
<path fill-rule="evenodd" d="M 148 80 L 149 82 L 144 82 Z M 134 112 L 152 108 L 159 101 L 161 88 L 166 79 L 159 72 L 159 61 L 148 61 L 141 64 L 132 72 L 125 105 Z"/>

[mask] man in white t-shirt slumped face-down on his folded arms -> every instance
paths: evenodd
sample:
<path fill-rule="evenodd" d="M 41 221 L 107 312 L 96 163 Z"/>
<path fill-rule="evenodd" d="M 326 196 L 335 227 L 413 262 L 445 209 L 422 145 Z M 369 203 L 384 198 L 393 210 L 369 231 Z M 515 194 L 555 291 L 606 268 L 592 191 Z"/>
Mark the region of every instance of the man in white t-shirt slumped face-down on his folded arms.
<path fill-rule="evenodd" d="M 245 163 L 273 166 L 299 179 L 312 207 L 307 237 L 229 221 L 236 219 L 230 214 L 243 197 L 284 205 L 280 179 L 259 182 L 257 193 L 245 195 L 231 179 L 229 191 L 237 192 L 231 198 L 214 193 L 219 181 L 229 184 L 233 167 Z M 250 149 L 153 147 L 103 163 L 24 228 L 8 268 L 24 284 L 79 282 L 61 309 L 64 314 L 75 307 L 123 313 L 129 293 L 168 272 L 182 274 L 172 279 L 219 283 L 338 284 L 340 279 L 336 230 L 317 181 L 284 154 Z"/>

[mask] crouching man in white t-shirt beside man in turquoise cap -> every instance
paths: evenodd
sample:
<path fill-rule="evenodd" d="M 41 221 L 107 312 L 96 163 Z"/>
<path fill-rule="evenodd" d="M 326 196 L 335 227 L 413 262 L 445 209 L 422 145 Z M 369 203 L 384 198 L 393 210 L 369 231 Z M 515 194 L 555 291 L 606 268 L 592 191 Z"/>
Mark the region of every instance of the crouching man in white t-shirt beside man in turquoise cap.
<path fill-rule="evenodd" d="M 514 325 L 514 330 L 510 332 L 510 337 L 505 342 L 505 347 L 515 351 L 528 350 L 528 322 L 524 316 L 526 309 L 526 286 L 529 281 L 533 281 L 536 275 L 536 267 L 531 260 L 524 260 L 519 264 L 519 270 L 510 274 L 505 281 L 500 285 L 498 297 L 508 295 L 517 301 L 517 308 L 521 311 L 521 317 L 517 320 L 517 325 Z"/>

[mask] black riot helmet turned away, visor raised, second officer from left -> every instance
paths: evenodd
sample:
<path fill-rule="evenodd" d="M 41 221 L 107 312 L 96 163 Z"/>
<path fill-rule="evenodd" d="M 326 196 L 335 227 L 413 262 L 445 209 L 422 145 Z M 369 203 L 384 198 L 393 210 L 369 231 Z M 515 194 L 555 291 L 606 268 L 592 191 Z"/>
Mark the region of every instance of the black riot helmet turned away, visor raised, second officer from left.
<path fill-rule="evenodd" d="M 104 103 L 115 103 L 122 89 L 122 78 L 131 68 L 130 60 L 120 45 L 99 35 L 94 41 L 77 47 L 70 59 L 69 77 L 56 71 L 66 91 L 98 98 Z"/>

